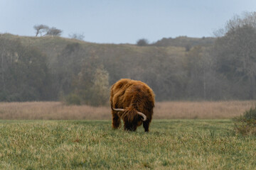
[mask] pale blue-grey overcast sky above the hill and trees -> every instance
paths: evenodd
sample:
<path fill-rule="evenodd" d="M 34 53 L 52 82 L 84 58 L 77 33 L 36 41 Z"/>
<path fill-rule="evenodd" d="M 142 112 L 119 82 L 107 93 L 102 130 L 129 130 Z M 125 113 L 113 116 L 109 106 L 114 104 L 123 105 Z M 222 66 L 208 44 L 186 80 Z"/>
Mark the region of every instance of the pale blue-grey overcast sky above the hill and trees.
<path fill-rule="evenodd" d="M 33 26 L 84 35 L 87 42 L 136 43 L 145 38 L 212 37 L 255 0 L 0 0 L 0 33 L 35 36 Z"/>

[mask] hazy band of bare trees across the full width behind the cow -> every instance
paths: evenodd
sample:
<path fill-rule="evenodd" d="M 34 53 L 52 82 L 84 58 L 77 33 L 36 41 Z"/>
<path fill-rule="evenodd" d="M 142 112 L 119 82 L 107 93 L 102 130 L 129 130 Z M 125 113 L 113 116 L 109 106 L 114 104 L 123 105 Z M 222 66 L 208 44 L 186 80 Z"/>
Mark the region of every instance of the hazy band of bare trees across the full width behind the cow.
<path fill-rule="evenodd" d="M 40 48 L 1 35 L 0 101 L 99 106 L 121 78 L 146 82 L 157 101 L 256 98 L 256 13 L 231 18 L 212 44 L 139 43 L 69 42 L 49 63 Z"/>

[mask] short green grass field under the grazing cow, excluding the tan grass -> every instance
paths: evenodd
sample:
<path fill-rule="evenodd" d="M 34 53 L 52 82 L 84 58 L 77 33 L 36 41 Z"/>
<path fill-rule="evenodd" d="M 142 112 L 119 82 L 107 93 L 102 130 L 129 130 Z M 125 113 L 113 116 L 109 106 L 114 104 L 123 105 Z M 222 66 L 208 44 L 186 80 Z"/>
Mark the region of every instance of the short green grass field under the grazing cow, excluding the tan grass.
<path fill-rule="evenodd" d="M 153 120 L 150 130 L 0 120 L 0 169 L 256 169 L 256 137 L 235 135 L 231 120 Z"/>

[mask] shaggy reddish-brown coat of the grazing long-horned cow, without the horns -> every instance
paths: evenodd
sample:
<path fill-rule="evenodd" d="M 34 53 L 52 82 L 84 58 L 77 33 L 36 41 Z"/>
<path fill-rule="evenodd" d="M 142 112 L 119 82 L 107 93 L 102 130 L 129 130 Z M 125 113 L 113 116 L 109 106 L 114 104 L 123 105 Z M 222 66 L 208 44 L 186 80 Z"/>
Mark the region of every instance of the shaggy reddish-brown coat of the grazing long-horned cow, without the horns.
<path fill-rule="evenodd" d="M 137 130 L 142 125 L 145 132 L 149 132 L 154 108 L 154 92 L 142 81 L 120 79 L 111 87 L 110 106 L 112 108 L 112 128 L 119 128 L 121 118 L 124 130 Z M 123 108 L 124 111 L 114 111 L 113 108 Z M 142 121 L 144 113 L 146 120 Z"/>

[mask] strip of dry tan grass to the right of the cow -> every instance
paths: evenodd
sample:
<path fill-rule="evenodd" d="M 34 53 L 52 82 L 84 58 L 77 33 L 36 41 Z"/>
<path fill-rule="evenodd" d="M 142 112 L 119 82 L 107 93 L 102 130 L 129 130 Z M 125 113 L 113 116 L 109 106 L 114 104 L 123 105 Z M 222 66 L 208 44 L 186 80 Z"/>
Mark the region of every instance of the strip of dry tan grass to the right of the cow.
<path fill-rule="evenodd" d="M 154 118 L 234 118 L 255 107 L 256 101 L 172 101 L 156 103 Z"/>

